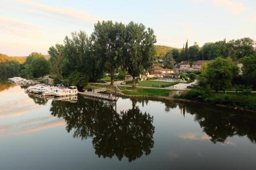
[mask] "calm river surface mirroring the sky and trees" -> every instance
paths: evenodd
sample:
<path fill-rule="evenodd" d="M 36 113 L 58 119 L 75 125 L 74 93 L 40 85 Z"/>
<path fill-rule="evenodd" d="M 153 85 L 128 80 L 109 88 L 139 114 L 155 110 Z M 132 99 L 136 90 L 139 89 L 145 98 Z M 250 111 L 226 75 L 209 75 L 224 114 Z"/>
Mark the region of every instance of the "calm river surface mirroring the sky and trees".
<path fill-rule="evenodd" d="M 141 99 L 74 102 L 0 86 L 0 169 L 256 168 L 254 114 Z"/>

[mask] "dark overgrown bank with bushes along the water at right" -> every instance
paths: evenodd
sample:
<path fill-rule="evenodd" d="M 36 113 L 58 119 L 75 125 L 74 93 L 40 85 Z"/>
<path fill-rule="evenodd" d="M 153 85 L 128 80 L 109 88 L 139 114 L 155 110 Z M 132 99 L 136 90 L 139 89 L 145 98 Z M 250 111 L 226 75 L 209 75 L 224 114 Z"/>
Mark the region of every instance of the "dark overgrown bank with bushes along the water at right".
<path fill-rule="evenodd" d="M 242 95 L 241 93 L 216 93 L 207 92 L 202 88 L 195 88 L 182 95 L 176 95 L 175 98 L 196 100 L 208 104 L 220 104 L 232 107 L 242 107 L 248 110 L 256 111 L 256 94 L 250 93 Z"/>

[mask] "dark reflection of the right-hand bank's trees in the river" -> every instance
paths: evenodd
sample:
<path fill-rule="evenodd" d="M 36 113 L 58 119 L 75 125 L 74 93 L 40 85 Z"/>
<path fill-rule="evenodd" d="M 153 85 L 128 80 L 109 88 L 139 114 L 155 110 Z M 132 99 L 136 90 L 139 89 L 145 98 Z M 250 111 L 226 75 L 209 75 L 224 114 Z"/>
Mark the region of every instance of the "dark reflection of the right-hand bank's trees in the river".
<path fill-rule="evenodd" d="M 164 103 L 173 108 L 169 102 Z M 178 107 L 184 117 L 185 113 L 195 115 L 195 121 L 214 143 L 224 143 L 227 137 L 234 135 L 247 136 L 256 143 L 256 115 L 253 113 L 190 103 L 178 103 Z"/>

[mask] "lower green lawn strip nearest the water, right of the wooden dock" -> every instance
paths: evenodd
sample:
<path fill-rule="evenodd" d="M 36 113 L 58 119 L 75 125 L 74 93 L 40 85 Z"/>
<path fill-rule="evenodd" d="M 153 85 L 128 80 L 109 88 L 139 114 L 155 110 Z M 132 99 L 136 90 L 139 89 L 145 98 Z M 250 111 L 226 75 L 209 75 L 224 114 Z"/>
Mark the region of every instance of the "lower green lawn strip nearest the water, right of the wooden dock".
<path fill-rule="evenodd" d="M 121 92 L 128 95 L 155 95 L 155 96 L 168 96 L 169 89 L 156 89 L 156 88 L 132 88 L 120 87 Z"/>

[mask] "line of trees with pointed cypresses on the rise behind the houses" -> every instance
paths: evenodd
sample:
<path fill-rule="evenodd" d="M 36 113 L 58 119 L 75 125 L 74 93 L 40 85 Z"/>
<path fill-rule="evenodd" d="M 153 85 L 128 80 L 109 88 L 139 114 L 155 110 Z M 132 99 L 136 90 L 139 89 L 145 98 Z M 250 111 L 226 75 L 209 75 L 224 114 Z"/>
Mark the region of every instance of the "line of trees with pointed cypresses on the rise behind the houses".
<path fill-rule="evenodd" d="M 172 56 L 176 62 L 197 61 L 197 60 L 214 60 L 217 57 L 231 58 L 232 61 L 251 55 L 254 53 L 254 40 L 248 37 L 230 40 L 226 42 L 207 42 L 200 47 L 197 42 L 188 47 L 188 40 L 183 44 L 182 49 L 174 48 L 166 56 Z"/>

